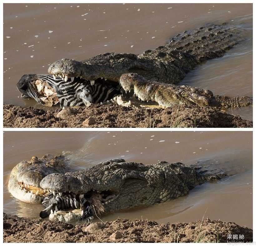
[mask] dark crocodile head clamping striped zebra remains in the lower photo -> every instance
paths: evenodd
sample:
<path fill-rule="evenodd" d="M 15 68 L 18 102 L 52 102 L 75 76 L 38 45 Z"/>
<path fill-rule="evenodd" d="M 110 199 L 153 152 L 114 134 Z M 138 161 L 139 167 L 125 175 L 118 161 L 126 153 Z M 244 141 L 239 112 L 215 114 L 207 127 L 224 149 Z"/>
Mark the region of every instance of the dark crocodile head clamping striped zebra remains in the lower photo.
<path fill-rule="evenodd" d="M 148 169 L 143 164 L 114 159 L 81 171 L 49 174 L 40 182 L 42 189 L 50 191 L 43 200 L 46 209 L 40 216 L 48 216 L 52 209 L 70 208 L 70 204 L 81 208 L 82 219 L 88 214 L 147 205 L 152 202 L 148 198 L 153 193 L 147 185 L 154 183 L 145 175 Z"/>

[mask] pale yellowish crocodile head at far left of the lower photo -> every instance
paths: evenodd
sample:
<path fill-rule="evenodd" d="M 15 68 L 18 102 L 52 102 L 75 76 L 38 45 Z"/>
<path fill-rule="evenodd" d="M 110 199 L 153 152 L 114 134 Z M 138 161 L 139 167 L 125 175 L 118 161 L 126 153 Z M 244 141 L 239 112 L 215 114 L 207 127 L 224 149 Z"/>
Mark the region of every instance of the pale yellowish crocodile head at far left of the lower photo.
<path fill-rule="evenodd" d="M 67 171 L 63 160 L 63 156 L 46 155 L 42 159 L 33 156 L 30 161 L 18 163 L 10 174 L 10 193 L 22 202 L 41 203 L 48 193 L 40 187 L 41 180 L 48 174 Z"/>

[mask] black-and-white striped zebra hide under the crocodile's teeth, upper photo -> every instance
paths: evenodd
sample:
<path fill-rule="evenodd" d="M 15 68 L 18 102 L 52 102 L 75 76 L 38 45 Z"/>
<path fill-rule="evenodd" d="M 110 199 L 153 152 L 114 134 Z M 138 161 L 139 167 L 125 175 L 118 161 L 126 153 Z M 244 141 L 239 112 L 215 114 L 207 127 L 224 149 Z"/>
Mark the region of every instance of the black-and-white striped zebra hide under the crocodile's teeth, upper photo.
<path fill-rule="evenodd" d="M 86 89 L 90 92 L 92 101 L 91 103 L 105 103 L 107 100 L 112 99 L 115 95 L 120 93 L 120 89 L 107 87 L 101 83 L 95 83 L 93 86 L 90 81 L 80 78 L 75 78 L 72 82 L 69 78 L 64 81 L 60 77 L 56 80 L 49 74 L 38 74 L 37 79 L 46 81 L 49 86 L 55 89 L 59 103 L 61 106 L 81 106 L 84 105 L 83 90 Z"/>

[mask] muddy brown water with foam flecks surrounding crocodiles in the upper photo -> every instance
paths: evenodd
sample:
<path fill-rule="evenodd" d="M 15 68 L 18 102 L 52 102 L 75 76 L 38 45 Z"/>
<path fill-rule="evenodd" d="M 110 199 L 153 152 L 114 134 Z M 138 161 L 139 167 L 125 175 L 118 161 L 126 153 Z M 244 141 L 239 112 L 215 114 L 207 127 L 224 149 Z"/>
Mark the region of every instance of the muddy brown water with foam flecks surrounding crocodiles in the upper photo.
<path fill-rule="evenodd" d="M 229 21 L 244 29 L 244 41 L 223 58 L 190 72 L 182 84 L 218 95 L 252 96 L 252 4 L 4 4 L 4 103 L 41 108 L 22 100 L 23 74 L 47 73 L 62 58 L 82 60 L 99 53 L 142 53 L 165 45 L 185 30 Z M 230 110 L 252 119 L 252 107 Z"/>

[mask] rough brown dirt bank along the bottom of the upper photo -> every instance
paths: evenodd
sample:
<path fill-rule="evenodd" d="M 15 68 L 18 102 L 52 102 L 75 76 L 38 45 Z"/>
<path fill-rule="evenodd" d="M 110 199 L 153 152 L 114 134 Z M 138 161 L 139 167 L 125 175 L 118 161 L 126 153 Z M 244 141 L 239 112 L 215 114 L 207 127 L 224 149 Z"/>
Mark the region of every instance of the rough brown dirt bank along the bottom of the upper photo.
<path fill-rule="evenodd" d="M 61 109 L 34 109 L 6 104 L 3 106 L 4 127 L 253 127 L 251 120 L 243 120 L 214 108 L 177 106 L 169 109 L 130 109 L 118 105 L 92 104 L 76 108 L 76 114 L 60 120 Z"/>

